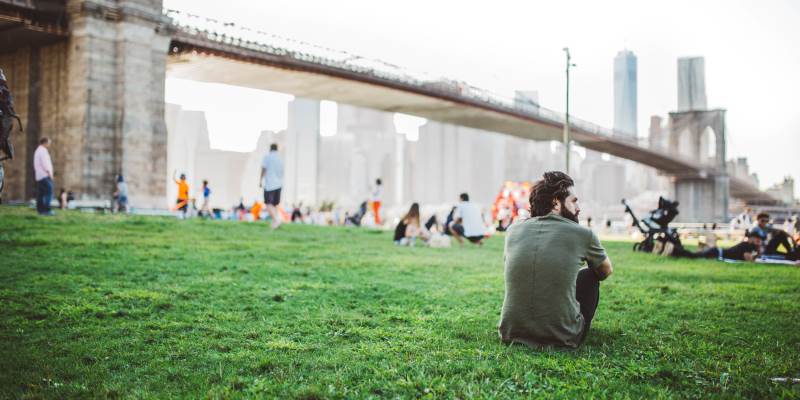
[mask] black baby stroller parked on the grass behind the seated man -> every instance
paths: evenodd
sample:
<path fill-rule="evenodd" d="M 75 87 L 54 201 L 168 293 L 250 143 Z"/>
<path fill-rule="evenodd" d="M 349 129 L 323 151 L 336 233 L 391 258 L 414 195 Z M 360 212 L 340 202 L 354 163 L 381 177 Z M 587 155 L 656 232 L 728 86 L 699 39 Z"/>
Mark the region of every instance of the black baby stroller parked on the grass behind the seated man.
<path fill-rule="evenodd" d="M 634 251 L 659 254 L 663 252 L 665 255 L 679 254 L 685 251 L 678 231 L 669 227 L 669 223 L 678 215 L 679 203 L 677 201 L 659 197 L 658 208 L 650 211 L 650 214 L 642 220 L 636 218 L 625 199 L 622 199 L 622 204 L 625 206 L 625 212 L 633 217 L 633 224 L 644 235 L 644 240 L 633 245 Z M 670 249 L 670 251 L 664 251 L 664 249 Z"/>

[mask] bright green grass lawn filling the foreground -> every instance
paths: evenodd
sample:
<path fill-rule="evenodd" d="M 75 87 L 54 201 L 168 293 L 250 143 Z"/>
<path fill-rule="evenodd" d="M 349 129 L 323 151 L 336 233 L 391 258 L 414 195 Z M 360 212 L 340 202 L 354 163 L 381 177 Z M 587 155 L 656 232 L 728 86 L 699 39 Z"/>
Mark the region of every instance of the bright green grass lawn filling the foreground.
<path fill-rule="evenodd" d="M 534 351 L 502 237 L 0 207 L 0 398 L 800 397 L 800 269 L 605 245 L 587 342 Z"/>

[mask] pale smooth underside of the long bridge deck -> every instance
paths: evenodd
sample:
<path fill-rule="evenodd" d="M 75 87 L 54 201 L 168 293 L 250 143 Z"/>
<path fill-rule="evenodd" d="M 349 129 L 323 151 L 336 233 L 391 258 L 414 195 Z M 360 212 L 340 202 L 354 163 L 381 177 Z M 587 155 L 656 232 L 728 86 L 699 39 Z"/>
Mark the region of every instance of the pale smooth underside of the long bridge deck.
<path fill-rule="evenodd" d="M 359 79 L 333 76 L 270 63 L 252 63 L 201 53 L 169 56 L 167 75 L 173 78 L 223 83 L 241 87 L 276 91 L 297 97 L 331 100 L 387 112 L 399 112 L 433 121 L 504 133 L 532 140 L 561 140 L 563 124 L 535 117 L 502 112 L 489 107 L 446 96 L 414 93 Z M 644 149 L 624 139 L 601 136 L 572 129 L 572 138 L 595 151 L 633 160 L 669 175 L 701 178 L 713 173 L 689 161 L 678 160 L 659 152 Z M 731 181 L 734 197 L 757 199 L 763 193 L 757 188 Z"/>

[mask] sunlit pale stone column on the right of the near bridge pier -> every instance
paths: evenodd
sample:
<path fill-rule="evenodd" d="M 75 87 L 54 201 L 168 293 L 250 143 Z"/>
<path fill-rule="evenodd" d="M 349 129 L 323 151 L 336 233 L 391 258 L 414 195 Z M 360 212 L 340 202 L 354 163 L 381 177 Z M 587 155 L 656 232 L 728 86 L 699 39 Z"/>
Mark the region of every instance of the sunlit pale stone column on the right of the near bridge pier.
<path fill-rule="evenodd" d="M 164 207 L 170 34 L 161 1 L 70 0 L 67 7 L 64 184 L 79 199 L 108 199 L 122 173 L 134 207 Z"/>

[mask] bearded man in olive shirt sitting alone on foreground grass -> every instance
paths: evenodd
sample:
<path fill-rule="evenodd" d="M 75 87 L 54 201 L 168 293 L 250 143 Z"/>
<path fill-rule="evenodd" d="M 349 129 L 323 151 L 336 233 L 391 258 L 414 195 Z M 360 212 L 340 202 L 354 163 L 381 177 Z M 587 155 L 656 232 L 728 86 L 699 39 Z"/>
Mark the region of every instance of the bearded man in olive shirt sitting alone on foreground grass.
<path fill-rule="evenodd" d="M 586 338 L 612 267 L 594 232 L 578 223 L 574 186 L 567 174 L 546 172 L 530 194 L 531 218 L 507 231 L 504 343 L 577 348 Z"/>

